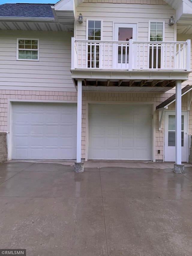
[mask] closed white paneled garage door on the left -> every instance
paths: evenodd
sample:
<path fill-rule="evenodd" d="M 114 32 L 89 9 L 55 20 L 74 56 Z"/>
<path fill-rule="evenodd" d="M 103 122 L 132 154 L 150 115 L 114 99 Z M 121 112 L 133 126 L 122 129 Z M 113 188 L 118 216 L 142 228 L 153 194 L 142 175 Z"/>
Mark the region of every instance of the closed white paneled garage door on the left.
<path fill-rule="evenodd" d="M 13 159 L 76 159 L 76 104 L 14 103 Z"/>

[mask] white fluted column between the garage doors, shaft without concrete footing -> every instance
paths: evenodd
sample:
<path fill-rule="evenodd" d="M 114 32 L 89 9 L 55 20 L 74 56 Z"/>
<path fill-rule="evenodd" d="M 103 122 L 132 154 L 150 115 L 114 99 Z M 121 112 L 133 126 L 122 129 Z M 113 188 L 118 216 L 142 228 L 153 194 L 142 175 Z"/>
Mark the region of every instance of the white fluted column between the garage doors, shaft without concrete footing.
<path fill-rule="evenodd" d="M 81 162 L 81 117 L 82 117 L 82 80 L 77 80 L 77 159 Z"/>

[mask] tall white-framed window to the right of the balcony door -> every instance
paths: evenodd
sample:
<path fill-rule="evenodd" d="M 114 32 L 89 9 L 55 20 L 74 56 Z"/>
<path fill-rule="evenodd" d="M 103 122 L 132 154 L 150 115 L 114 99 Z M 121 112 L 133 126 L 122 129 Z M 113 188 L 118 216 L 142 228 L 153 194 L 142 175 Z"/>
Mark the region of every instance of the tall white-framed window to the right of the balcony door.
<path fill-rule="evenodd" d="M 149 40 L 152 42 L 164 41 L 164 22 L 149 22 Z M 156 60 L 158 60 L 158 64 Z M 161 45 L 157 47 L 156 44 L 153 44 L 149 47 L 149 68 L 161 68 Z"/>

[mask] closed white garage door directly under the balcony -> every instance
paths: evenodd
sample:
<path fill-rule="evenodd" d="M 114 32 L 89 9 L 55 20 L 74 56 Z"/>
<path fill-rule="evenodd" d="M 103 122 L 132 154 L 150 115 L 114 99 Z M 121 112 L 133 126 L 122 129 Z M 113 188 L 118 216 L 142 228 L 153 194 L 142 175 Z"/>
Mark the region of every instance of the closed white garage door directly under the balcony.
<path fill-rule="evenodd" d="M 151 160 L 150 105 L 89 105 L 89 159 Z"/>

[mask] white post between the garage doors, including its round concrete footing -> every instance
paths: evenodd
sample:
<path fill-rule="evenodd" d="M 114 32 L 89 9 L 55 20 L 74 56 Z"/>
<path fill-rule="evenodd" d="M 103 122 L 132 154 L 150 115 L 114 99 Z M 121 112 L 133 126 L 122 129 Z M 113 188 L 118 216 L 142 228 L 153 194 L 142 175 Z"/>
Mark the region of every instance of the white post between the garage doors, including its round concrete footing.
<path fill-rule="evenodd" d="M 75 172 L 84 171 L 84 163 L 81 162 L 81 118 L 82 118 L 82 79 L 77 79 L 77 156 Z"/>

